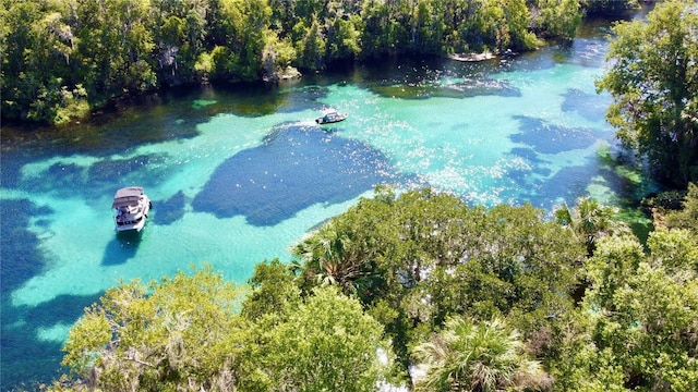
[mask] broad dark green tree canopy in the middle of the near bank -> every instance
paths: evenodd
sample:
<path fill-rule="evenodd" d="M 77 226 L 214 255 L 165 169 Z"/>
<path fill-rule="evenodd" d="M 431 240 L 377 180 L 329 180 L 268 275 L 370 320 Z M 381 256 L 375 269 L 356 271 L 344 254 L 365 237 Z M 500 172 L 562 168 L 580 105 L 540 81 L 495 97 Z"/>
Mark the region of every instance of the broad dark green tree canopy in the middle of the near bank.
<path fill-rule="evenodd" d="M 333 284 L 373 305 L 406 360 L 411 328 L 435 329 L 449 315 L 510 315 L 526 332 L 540 328 L 571 306 L 583 250 L 530 206 L 488 211 L 430 189 L 378 188 L 296 254 L 301 287 Z"/>

